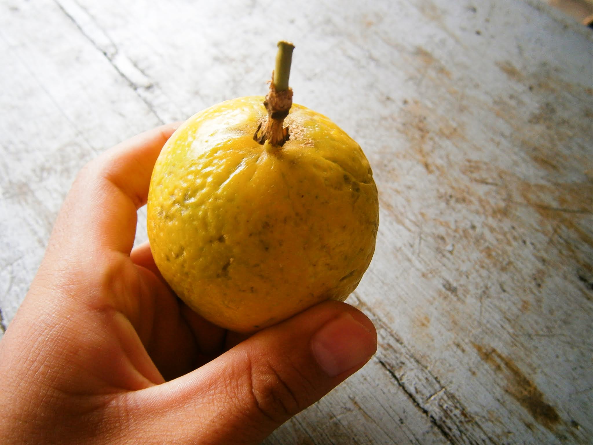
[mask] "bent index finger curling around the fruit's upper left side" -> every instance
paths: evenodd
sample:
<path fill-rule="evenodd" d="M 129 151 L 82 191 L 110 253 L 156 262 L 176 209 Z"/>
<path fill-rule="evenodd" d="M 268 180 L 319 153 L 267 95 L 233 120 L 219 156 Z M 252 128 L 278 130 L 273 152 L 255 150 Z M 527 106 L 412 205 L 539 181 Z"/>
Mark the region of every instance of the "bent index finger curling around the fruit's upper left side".
<path fill-rule="evenodd" d="M 52 244 L 78 250 L 128 254 L 136 230 L 136 210 L 145 204 L 152 168 L 162 146 L 178 127 L 163 125 L 122 142 L 82 169 L 68 193 L 52 234 Z"/>

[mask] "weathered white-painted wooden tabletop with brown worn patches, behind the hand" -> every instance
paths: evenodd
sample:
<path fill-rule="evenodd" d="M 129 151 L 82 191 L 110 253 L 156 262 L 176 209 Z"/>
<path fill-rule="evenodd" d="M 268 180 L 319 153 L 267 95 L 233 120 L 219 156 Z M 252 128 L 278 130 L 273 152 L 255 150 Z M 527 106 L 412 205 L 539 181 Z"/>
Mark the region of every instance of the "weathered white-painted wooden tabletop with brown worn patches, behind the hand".
<path fill-rule="evenodd" d="M 2 328 L 81 166 L 264 94 L 281 38 L 374 169 L 380 345 L 265 443 L 591 443 L 593 37 L 537 0 L 0 0 Z"/>

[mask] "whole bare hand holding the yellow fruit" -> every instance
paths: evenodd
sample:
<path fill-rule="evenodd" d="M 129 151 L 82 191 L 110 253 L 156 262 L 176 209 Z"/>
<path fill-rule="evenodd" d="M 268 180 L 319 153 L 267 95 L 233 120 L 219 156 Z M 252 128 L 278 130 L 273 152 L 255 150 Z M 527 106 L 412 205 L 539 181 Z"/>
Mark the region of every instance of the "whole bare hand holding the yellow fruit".
<path fill-rule="evenodd" d="M 335 301 L 239 342 L 171 293 L 148 244 L 132 250 L 174 128 L 75 180 L 0 342 L 3 443 L 255 444 L 374 354 L 370 320 Z"/>

